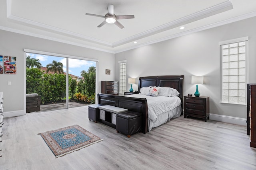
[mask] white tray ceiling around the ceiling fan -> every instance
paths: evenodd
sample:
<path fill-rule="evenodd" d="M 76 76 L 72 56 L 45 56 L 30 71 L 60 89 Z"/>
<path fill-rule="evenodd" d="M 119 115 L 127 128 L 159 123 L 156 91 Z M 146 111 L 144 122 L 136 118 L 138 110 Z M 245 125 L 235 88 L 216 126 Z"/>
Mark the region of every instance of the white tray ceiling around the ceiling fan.
<path fill-rule="evenodd" d="M 135 18 L 98 28 L 104 18 L 85 13 L 104 16 L 108 4 Z M 256 16 L 255 0 L 6 0 L 0 8 L 0 29 L 110 53 Z"/>

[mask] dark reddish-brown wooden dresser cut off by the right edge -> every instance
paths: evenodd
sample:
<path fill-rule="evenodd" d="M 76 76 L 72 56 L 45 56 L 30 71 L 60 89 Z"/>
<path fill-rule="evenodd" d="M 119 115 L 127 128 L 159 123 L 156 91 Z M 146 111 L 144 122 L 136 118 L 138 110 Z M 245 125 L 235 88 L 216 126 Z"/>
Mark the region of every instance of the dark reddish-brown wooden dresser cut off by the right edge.
<path fill-rule="evenodd" d="M 249 102 L 247 100 L 249 131 L 247 130 L 247 134 L 250 135 L 250 147 L 256 148 L 256 84 L 247 84 L 247 92 L 247 97 L 249 96 Z"/>

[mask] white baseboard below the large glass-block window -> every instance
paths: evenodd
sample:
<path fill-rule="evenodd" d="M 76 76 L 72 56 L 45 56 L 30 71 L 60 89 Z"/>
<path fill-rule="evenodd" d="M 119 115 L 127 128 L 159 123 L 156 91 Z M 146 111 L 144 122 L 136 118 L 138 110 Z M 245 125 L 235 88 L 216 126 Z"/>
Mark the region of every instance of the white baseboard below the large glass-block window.
<path fill-rule="evenodd" d="M 232 116 L 226 116 L 226 115 L 216 115 L 213 113 L 210 113 L 210 120 L 223 121 L 226 123 L 232 123 L 236 125 L 244 125 L 244 126 L 247 125 L 245 118 L 232 117 Z"/>

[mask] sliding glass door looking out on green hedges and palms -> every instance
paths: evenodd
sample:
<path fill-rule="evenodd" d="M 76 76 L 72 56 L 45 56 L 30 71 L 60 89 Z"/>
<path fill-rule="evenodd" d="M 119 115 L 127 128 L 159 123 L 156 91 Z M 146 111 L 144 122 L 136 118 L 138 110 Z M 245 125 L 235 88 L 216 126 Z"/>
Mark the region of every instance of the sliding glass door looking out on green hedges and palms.
<path fill-rule="evenodd" d="M 95 103 L 96 62 L 26 53 L 26 94 L 41 96 L 41 111 Z"/>

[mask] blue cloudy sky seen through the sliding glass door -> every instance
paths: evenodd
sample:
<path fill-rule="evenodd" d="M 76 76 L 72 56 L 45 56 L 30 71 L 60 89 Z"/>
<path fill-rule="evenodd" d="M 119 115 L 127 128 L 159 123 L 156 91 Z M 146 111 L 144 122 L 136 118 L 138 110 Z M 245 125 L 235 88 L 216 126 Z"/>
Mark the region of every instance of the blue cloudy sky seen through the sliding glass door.
<path fill-rule="evenodd" d="M 39 59 L 40 63 L 43 67 L 46 67 L 47 64 L 52 63 L 52 61 L 61 62 L 63 64 L 63 70 L 66 72 L 66 58 L 64 57 L 55 57 L 49 55 L 41 55 L 41 54 L 34 54 L 34 53 L 27 53 L 30 55 L 30 58 Z M 96 62 L 94 61 L 86 61 L 86 60 L 79 60 L 79 59 L 69 59 L 68 60 L 69 74 L 73 74 L 75 76 L 81 76 L 81 71 L 85 70 L 88 71 L 88 68 L 91 66 L 96 67 Z"/>

